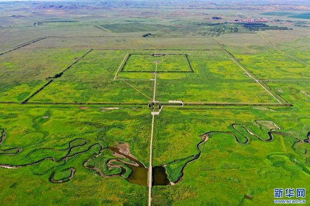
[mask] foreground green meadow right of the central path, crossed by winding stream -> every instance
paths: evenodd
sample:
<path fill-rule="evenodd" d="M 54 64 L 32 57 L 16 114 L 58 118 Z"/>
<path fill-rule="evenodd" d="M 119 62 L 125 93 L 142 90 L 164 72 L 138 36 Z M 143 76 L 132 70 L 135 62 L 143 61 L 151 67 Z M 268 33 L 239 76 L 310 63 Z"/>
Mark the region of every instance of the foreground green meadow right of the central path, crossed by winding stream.
<path fill-rule="evenodd" d="M 310 119 L 292 110 L 165 108 L 156 122 L 154 164 L 166 165 L 177 184 L 155 186 L 155 205 L 268 205 L 274 188 L 308 188 Z M 272 141 L 270 131 L 279 132 Z M 199 158 L 185 166 L 199 154 L 203 134 Z"/>

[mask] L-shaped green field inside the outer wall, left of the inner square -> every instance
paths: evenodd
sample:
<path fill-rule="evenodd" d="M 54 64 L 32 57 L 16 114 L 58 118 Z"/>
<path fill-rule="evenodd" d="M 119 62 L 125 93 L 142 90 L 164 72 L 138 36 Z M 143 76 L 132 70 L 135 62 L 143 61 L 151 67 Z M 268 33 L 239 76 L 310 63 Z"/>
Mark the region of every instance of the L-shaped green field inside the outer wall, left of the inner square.
<path fill-rule="evenodd" d="M 153 94 L 153 81 L 126 83 L 114 80 L 125 55 L 126 51 L 94 50 L 34 96 L 31 102 L 148 102 L 148 97 Z"/>

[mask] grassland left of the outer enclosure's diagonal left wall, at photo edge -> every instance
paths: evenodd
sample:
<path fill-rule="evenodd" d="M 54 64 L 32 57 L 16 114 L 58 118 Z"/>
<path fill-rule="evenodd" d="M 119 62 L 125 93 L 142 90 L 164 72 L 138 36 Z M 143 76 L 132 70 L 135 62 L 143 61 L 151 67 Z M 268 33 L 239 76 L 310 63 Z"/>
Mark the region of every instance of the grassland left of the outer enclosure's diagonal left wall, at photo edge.
<path fill-rule="evenodd" d="M 21 48 L 0 56 L 0 102 L 21 102 L 86 50 Z"/>

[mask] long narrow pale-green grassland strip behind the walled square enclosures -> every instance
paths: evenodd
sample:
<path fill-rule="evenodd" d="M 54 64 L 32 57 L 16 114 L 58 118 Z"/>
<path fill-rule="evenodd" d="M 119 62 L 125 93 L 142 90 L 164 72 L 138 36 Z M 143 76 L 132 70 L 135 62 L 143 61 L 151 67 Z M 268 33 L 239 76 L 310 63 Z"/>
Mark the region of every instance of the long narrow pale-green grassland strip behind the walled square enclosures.
<path fill-rule="evenodd" d="M 144 32 L 145 33 L 145 32 Z M 137 36 L 138 35 L 138 36 Z M 221 49 L 211 38 L 200 37 L 163 37 L 163 38 L 145 38 L 141 34 L 125 35 L 120 37 L 115 33 L 109 33 L 107 36 L 50 36 L 36 44 L 29 45 L 29 48 L 49 47 L 78 47 L 93 49 L 110 49 L 110 50 L 143 50 L 143 49 L 162 49 L 162 50 L 218 50 Z M 134 52 L 133 52 L 134 53 Z"/>

